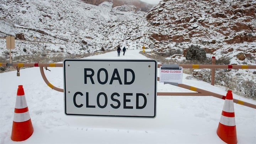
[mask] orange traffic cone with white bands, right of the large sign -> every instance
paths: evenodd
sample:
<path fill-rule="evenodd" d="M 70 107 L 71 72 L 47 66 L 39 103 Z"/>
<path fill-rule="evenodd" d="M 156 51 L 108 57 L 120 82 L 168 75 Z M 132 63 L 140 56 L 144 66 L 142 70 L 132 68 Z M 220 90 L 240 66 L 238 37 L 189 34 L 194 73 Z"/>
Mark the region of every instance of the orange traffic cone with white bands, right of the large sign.
<path fill-rule="evenodd" d="M 222 115 L 220 117 L 217 134 L 224 142 L 228 144 L 236 144 L 236 125 L 235 125 L 235 112 L 232 91 L 228 90 Z"/>

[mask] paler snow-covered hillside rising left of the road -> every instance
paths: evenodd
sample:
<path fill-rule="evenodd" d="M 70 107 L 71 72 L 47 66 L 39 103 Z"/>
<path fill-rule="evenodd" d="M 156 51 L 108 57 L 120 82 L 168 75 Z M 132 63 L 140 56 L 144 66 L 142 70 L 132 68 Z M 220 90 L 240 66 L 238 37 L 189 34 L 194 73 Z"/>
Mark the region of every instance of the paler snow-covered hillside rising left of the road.
<path fill-rule="evenodd" d="M 133 20 L 144 14 L 112 9 L 111 2 L 95 6 L 80 0 L 2 0 L 0 4 L 0 37 L 26 39 L 16 40 L 12 56 L 43 52 L 53 46 L 52 50 L 64 54 L 106 49 L 112 47 L 110 42 L 104 42 L 108 37 L 107 23 Z M 0 42 L 0 56 L 7 57 L 5 39 Z"/>

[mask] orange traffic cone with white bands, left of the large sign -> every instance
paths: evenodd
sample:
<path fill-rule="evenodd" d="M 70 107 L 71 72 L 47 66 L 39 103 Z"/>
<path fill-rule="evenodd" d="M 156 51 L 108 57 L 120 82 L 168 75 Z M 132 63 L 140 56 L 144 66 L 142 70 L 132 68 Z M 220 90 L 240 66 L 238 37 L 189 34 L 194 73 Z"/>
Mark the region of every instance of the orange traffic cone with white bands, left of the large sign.
<path fill-rule="evenodd" d="M 33 131 L 24 89 L 22 85 L 19 85 L 14 109 L 14 120 L 12 122 L 11 139 L 13 141 L 26 140 L 32 135 Z"/>

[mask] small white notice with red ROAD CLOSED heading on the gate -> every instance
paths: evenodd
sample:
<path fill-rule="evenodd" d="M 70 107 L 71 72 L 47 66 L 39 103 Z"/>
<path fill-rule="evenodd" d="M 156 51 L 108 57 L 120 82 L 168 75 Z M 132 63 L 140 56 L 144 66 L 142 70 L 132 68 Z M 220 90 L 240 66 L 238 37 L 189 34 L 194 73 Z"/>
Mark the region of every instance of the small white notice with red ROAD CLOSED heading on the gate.
<path fill-rule="evenodd" d="M 182 84 L 182 67 L 163 67 L 160 66 L 159 82 L 175 82 Z"/>

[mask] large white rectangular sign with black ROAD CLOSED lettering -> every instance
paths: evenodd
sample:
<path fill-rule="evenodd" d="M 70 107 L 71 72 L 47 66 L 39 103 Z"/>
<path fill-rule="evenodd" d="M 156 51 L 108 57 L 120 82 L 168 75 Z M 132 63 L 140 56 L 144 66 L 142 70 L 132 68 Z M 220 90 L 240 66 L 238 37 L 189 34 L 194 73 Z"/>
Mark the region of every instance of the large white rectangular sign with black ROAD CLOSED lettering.
<path fill-rule="evenodd" d="M 65 59 L 67 116 L 155 118 L 155 60 Z"/>

